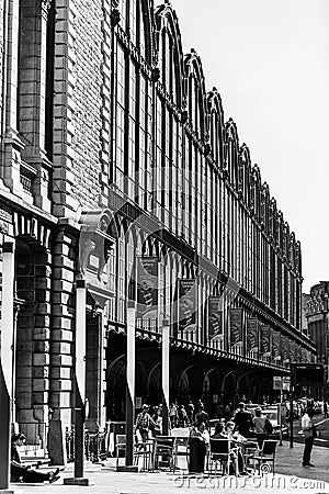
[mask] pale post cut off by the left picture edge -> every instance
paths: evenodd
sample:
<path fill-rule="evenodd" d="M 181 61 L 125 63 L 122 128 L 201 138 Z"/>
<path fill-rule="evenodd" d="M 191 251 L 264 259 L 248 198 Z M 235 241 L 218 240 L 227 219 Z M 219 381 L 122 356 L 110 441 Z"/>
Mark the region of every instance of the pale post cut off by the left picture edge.
<path fill-rule="evenodd" d="M 10 414 L 14 355 L 14 244 L 2 247 L 2 327 L 0 360 L 0 490 L 9 491 L 10 479 Z"/>

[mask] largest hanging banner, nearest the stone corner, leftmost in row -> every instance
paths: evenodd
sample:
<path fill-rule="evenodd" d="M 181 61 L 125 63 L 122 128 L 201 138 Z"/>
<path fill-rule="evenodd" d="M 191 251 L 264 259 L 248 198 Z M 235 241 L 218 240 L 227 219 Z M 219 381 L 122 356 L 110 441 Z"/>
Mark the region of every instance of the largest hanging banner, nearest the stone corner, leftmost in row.
<path fill-rule="evenodd" d="M 137 317 L 158 317 L 157 257 L 137 257 Z"/>

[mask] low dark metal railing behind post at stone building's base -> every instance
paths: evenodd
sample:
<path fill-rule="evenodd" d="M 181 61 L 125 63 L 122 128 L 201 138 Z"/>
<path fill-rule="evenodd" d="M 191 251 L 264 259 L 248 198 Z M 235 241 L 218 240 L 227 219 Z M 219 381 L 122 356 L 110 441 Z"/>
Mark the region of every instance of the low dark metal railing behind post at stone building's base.
<path fill-rule="evenodd" d="M 84 456 L 86 460 L 92 463 L 98 463 L 101 460 L 105 460 L 107 457 L 107 428 L 104 430 L 99 430 L 91 433 L 90 430 L 84 431 Z M 65 431 L 65 442 L 67 461 L 75 461 L 75 427 L 70 430 L 67 427 Z"/>

